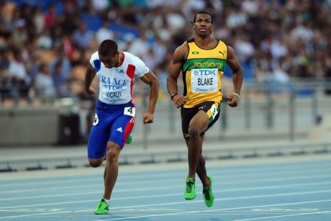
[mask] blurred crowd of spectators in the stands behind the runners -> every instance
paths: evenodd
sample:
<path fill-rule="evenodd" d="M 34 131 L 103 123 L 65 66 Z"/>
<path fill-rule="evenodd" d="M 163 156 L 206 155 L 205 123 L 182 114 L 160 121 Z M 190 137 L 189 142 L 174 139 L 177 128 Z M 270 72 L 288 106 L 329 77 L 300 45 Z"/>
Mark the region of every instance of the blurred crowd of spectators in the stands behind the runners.
<path fill-rule="evenodd" d="M 168 99 L 168 64 L 192 37 L 200 10 L 214 15 L 212 35 L 234 48 L 245 81 L 324 81 L 331 77 L 330 9 L 330 0 L 0 1 L 0 99 L 90 99 L 86 65 L 104 39 L 141 57 L 159 77 L 160 99 Z"/>

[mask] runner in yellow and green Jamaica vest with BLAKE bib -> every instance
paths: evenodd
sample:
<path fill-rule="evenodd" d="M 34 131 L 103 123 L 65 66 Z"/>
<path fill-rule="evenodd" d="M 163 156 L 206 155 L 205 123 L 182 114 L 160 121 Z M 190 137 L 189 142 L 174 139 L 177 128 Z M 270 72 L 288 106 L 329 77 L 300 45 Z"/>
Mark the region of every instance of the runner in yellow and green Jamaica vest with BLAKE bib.
<path fill-rule="evenodd" d="M 230 46 L 212 39 L 212 16 L 198 12 L 192 22 L 194 37 L 179 46 L 172 56 L 167 87 L 172 102 L 181 108 L 183 136 L 188 146 L 188 177 L 184 198 L 196 197 L 195 173 L 203 184 L 203 200 L 212 206 L 212 177 L 205 169 L 202 153 L 203 135 L 219 118 L 222 101 L 221 77 L 228 64 L 232 70 L 234 92 L 228 97 L 228 105 L 235 107 L 240 98 L 243 70 Z M 178 92 L 177 79 L 183 74 L 184 92 Z"/>

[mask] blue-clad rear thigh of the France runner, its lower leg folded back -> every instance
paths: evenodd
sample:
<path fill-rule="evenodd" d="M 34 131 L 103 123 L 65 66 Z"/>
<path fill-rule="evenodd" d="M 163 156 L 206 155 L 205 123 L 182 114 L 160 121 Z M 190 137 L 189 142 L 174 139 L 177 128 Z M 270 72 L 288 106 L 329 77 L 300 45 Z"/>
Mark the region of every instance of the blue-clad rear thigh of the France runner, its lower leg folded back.
<path fill-rule="evenodd" d="M 106 155 L 107 142 L 109 140 L 112 114 L 105 111 L 97 111 L 90 137 L 88 138 L 88 157 L 100 158 Z"/>

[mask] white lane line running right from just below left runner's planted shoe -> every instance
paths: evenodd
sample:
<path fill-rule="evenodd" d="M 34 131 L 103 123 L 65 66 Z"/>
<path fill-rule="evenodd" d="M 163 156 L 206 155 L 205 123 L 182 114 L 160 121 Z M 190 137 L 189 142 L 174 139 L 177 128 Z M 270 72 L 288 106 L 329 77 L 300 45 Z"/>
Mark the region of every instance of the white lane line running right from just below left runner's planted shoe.
<path fill-rule="evenodd" d="M 290 202 L 290 203 L 282 203 L 282 204 L 269 204 L 269 205 L 261 205 L 261 206 L 242 206 L 242 207 L 234 207 L 234 208 L 226 208 L 226 209 L 214 209 L 214 210 L 203 210 L 203 211 L 190 211 L 190 212 L 182 212 L 182 213 L 163 213 L 163 214 L 152 214 L 152 215 L 140 215 L 140 216 L 131 216 L 126 218 L 112 218 L 112 219 L 103 219 L 103 220 L 94 220 L 94 221 L 112 221 L 112 220 L 132 220 L 136 218 L 150 218 L 160 215 L 177 215 L 177 214 L 189 214 L 189 213 L 203 213 L 210 211 L 229 211 L 236 209 L 252 209 L 252 208 L 260 208 L 260 207 L 269 207 L 269 206 L 286 206 L 286 205 L 295 205 L 295 204 L 310 204 L 310 203 L 319 203 L 319 202 L 331 202 L 331 200 L 314 200 L 314 201 L 305 201 L 305 202 Z M 323 211 L 323 213 L 328 213 L 330 211 Z M 235 220 L 232 220 L 235 221 Z M 237 220 L 239 221 L 239 220 Z"/>

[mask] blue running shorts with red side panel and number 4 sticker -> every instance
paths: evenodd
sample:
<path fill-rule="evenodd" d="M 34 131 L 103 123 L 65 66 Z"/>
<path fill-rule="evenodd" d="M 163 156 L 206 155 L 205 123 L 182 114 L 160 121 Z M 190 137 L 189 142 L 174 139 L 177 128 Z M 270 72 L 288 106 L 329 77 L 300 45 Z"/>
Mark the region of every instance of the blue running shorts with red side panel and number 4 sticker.
<path fill-rule="evenodd" d="M 132 101 L 127 104 L 105 104 L 99 101 L 88 138 L 88 157 L 104 157 L 109 141 L 123 148 L 134 125 L 135 111 Z"/>

